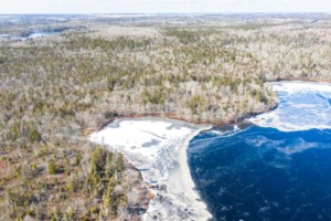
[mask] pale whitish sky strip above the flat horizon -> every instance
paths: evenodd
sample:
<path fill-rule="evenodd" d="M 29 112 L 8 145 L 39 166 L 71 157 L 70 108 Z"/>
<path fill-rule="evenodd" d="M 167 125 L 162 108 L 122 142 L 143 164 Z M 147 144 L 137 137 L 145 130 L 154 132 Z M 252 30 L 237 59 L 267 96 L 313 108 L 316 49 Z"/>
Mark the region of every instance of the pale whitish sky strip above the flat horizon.
<path fill-rule="evenodd" d="M 0 0 L 0 13 L 330 12 L 331 0 Z"/>

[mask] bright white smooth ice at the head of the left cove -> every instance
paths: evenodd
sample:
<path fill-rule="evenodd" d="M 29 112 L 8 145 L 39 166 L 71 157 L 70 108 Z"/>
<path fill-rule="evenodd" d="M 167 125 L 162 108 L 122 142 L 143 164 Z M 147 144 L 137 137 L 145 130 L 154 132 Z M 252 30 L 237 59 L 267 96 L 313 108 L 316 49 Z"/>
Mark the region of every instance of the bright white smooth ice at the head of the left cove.
<path fill-rule="evenodd" d="M 170 143 L 178 143 L 192 130 L 173 126 L 170 122 L 132 119 L 115 122 L 93 134 L 90 138 L 93 141 L 156 161 L 164 147 L 170 146 Z"/>

